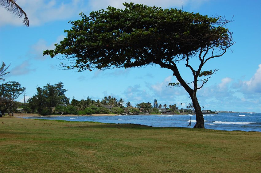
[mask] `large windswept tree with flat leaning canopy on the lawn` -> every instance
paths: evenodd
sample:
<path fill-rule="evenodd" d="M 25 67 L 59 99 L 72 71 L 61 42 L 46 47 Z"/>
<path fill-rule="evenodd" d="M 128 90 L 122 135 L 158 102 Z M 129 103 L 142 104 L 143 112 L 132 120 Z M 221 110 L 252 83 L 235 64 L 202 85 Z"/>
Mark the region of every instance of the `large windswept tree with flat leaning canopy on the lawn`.
<path fill-rule="evenodd" d="M 178 80 L 169 86 L 184 87 L 193 102 L 197 120 L 194 127 L 205 128 L 197 90 L 217 70 L 203 71 L 203 65 L 224 55 L 234 44 L 232 32 L 225 28 L 231 21 L 172 8 L 123 5 L 125 9 L 108 7 L 89 16 L 80 13 L 81 20 L 70 21 L 72 29 L 65 30 L 67 37 L 43 55 L 64 55 L 60 59 L 69 60 L 69 64 L 61 63 L 61 67 L 79 72 L 153 64 L 167 68 Z M 194 68 L 192 58 L 198 60 Z M 182 78 L 177 67 L 180 61 L 192 71 L 192 82 Z"/>

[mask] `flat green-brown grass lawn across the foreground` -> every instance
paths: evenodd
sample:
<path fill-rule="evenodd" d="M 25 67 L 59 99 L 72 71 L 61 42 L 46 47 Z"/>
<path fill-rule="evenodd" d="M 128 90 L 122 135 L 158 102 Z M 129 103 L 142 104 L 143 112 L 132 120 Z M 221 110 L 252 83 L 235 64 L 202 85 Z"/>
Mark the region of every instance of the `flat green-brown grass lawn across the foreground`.
<path fill-rule="evenodd" d="M 0 172 L 260 172 L 261 133 L 0 118 Z"/>

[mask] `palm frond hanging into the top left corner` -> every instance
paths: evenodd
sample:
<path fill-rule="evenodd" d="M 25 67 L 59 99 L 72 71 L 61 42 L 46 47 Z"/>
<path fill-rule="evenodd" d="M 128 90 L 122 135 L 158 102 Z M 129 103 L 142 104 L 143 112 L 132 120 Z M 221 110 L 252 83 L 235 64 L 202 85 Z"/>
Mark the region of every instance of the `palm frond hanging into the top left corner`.
<path fill-rule="evenodd" d="M 29 26 L 29 19 L 24 10 L 18 6 L 16 0 L 0 0 L 0 6 L 4 7 L 7 11 L 10 11 L 18 18 L 24 17 L 23 25 Z"/>

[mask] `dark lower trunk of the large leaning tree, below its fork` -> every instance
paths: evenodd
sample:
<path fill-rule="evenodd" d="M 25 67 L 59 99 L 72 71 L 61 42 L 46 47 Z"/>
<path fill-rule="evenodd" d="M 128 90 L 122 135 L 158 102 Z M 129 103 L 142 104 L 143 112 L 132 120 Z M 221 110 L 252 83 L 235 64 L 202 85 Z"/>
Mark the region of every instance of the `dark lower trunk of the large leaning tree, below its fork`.
<path fill-rule="evenodd" d="M 204 117 L 203 114 L 201 112 L 201 107 L 199 106 L 198 100 L 197 100 L 197 95 L 195 93 L 194 95 L 194 99 L 193 99 L 193 93 L 189 94 L 191 99 L 193 100 L 193 106 L 195 109 L 195 113 L 196 113 L 196 124 L 194 125 L 194 128 L 205 128 L 204 126 Z"/>

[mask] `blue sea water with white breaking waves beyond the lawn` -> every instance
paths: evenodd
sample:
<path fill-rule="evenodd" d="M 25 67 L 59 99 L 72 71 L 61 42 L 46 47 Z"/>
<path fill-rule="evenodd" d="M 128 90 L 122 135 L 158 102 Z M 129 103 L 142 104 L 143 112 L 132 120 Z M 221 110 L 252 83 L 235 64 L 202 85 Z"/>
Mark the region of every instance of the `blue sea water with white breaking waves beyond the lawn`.
<path fill-rule="evenodd" d="M 190 115 L 117 115 L 79 117 L 25 117 L 48 120 L 96 121 L 103 123 L 132 123 L 153 127 L 189 127 Z M 218 113 L 204 115 L 205 128 L 216 130 L 242 130 L 261 132 L 261 113 Z M 196 124 L 191 117 L 191 128 Z"/>

